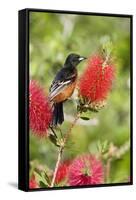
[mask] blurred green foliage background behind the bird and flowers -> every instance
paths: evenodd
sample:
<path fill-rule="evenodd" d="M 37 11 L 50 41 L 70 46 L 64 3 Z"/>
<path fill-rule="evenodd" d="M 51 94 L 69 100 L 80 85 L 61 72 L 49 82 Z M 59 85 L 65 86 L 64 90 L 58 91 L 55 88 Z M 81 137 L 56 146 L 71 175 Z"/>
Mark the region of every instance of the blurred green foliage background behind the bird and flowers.
<path fill-rule="evenodd" d="M 90 56 L 112 41 L 116 80 L 108 104 L 90 121 L 79 120 L 72 131 L 63 159 L 85 152 L 96 153 L 97 143 L 108 140 L 117 147 L 128 145 L 112 162 L 109 182 L 127 182 L 130 176 L 130 19 L 121 17 L 30 13 L 30 77 L 48 92 L 56 72 L 69 53 Z M 78 66 L 79 75 L 85 63 Z M 71 98 L 64 104 L 65 132 L 76 112 Z M 56 147 L 48 139 L 30 134 L 30 161 L 54 169 Z"/>

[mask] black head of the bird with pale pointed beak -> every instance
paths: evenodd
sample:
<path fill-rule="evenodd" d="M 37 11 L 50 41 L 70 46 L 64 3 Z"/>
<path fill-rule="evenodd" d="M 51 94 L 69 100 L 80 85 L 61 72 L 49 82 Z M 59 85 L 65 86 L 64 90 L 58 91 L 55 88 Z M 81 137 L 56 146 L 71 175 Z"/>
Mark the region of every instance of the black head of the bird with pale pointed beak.
<path fill-rule="evenodd" d="M 66 58 L 65 67 L 76 67 L 82 60 L 85 60 L 86 57 L 80 56 L 78 54 L 71 53 Z"/>

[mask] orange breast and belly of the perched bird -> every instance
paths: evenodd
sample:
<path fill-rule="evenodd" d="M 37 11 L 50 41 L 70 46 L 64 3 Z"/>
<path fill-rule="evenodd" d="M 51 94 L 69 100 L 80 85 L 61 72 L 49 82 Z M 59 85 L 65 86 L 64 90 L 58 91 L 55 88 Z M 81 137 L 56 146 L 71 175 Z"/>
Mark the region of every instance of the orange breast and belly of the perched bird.
<path fill-rule="evenodd" d="M 69 84 L 62 92 L 60 92 L 56 97 L 54 97 L 54 103 L 60 103 L 67 100 L 74 92 L 76 86 L 76 80 Z"/>

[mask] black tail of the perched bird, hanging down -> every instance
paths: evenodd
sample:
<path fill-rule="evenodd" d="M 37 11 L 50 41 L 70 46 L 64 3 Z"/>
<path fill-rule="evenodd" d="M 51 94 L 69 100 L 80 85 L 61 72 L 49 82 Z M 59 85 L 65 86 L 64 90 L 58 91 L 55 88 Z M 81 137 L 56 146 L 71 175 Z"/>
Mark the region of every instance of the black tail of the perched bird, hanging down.
<path fill-rule="evenodd" d="M 55 103 L 53 110 L 53 119 L 52 126 L 57 126 L 57 124 L 62 124 L 64 121 L 64 113 L 63 113 L 63 103 Z"/>

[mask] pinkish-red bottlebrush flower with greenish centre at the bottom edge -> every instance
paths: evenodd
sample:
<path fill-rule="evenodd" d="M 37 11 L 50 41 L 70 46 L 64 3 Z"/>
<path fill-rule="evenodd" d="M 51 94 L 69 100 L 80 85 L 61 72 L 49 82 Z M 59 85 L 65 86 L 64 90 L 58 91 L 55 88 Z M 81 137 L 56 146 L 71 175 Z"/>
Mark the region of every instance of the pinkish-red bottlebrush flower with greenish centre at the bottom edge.
<path fill-rule="evenodd" d="M 71 186 L 103 183 L 101 161 L 89 154 L 76 158 L 69 168 L 68 180 Z"/>

